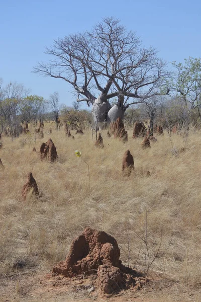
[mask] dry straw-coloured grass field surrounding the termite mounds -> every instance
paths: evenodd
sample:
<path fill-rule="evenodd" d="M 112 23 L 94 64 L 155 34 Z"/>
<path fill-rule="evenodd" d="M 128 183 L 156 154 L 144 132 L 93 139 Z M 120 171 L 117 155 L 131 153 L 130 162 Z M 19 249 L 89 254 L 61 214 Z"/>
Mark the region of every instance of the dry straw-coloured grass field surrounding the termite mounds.
<path fill-rule="evenodd" d="M 86 226 L 113 235 L 125 264 L 129 255 L 130 265 L 144 271 L 148 255 L 145 263 L 140 237 L 147 236 L 151 261 L 162 236 L 149 276 L 174 284 L 166 287 L 166 300 L 172 296 L 179 300 L 183 291 L 190 301 L 188 292 L 197 294 L 201 284 L 200 132 L 191 129 L 185 138 L 165 133 L 150 149 L 142 149 L 141 140 L 131 138 L 132 130 L 128 130 L 126 143 L 108 138 L 104 130 L 105 147 L 100 149 L 95 148 L 89 130 L 73 140 L 64 130 L 53 130 L 50 135 L 46 129 L 42 140 L 34 134 L 3 139 L 0 158 L 6 169 L 0 171 L 0 274 L 22 267 L 51 271 L 65 259 L 72 239 Z M 50 137 L 59 156 L 54 164 L 41 162 L 32 152 L 34 146 L 39 151 Z M 182 147 L 186 149 L 180 153 Z M 76 149 L 89 164 L 90 189 L 87 165 L 75 156 Z M 129 178 L 121 172 L 127 149 L 135 163 Z M 23 203 L 21 190 L 29 172 L 42 197 Z M 154 290 L 159 300 L 160 289 Z"/>

